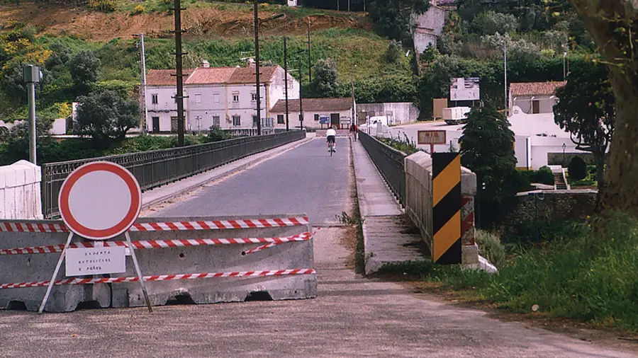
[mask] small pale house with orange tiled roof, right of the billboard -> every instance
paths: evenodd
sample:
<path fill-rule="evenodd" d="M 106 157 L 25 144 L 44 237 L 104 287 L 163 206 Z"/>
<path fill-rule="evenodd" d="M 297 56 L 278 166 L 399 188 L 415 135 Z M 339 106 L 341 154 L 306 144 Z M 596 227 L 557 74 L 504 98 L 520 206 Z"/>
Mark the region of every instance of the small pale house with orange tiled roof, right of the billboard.
<path fill-rule="evenodd" d="M 565 84 L 565 81 L 510 83 L 510 115 L 518 114 L 517 110 L 527 115 L 553 113 L 558 103 L 556 88 Z"/>

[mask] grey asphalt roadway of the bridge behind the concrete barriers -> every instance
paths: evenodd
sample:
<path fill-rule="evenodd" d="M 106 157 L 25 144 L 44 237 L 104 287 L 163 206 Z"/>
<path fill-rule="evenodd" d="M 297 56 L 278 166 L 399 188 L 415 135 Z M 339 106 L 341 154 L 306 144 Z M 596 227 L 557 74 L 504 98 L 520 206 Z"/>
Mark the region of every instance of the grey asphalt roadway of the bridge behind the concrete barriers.
<path fill-rule="evenodd" d="M 349 197 L 349 139 L 337 138 L 332 157 L 313 139 L 247 171 L 206 185 L 153 216 L 258 216 L 306 213 L 314 225 L 333 224 Z"/>

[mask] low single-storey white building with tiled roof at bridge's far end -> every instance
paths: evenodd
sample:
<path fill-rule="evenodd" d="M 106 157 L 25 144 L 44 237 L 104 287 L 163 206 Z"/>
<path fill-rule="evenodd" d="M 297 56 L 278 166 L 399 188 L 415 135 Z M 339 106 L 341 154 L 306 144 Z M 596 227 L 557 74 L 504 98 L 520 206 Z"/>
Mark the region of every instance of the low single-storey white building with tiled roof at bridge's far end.
<path fill-rule="evenodd" d="M 330 125 L 336 125 L 340 129 L 347 129 L 352 121 L 355 105 L 352 98 L 303 98 L 302 100 L 303 127 L 305 128 L 328 127 L 328 123 L 321 125 L 320 118 L 330 118 Z M 277 101 L 271 112 L 275 118 L 275 127 L 286 128 L 286 101 Z M 298 128 L 300 126 L 298 99 L 288 101 L 288 113 L 289 127 Z"/>

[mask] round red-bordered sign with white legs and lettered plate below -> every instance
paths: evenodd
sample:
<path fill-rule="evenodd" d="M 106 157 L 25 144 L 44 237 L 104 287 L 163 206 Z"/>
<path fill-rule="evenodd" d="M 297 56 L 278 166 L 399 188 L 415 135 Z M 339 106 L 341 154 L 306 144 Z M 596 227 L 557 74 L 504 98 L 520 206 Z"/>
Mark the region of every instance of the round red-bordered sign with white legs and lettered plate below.
<path fill-rule="evenodd" d="M 135 248 L 130 243 L 128 229 L 138 219 L 142 209 L 142 190 L 135 176 L 126 168 L 108 161 L 94 161 L 74 170 L 62 183 L 58 207 L 62 220 L 69 229 L 69 237 L 57 261 L 47 293 L 40 305 L 42 313 L 51 289 L 67 257 L 66 275 L 101 275 L 126 271 L 125 248 L 97 245 L 94 248 L 69 249 L 73 235 L 101 241 L 125 233 L 135 272 L 138 274 L 142 292 L 152 312 L 150 300 L 142 279 Z"/>

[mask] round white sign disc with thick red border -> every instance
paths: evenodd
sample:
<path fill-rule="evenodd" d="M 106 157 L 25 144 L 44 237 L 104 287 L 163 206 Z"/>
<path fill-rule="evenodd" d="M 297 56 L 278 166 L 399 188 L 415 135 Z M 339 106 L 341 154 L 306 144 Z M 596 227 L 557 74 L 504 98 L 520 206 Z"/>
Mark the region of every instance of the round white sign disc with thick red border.
<path fill-rule="evenodd" d="M 130 171 L 108 161 L 77 168 L 62 183 L 60 214 L 69 230 L 106 240 L 127 231 L 140 215 L 142 190 Z"/>

